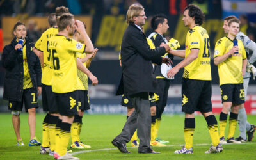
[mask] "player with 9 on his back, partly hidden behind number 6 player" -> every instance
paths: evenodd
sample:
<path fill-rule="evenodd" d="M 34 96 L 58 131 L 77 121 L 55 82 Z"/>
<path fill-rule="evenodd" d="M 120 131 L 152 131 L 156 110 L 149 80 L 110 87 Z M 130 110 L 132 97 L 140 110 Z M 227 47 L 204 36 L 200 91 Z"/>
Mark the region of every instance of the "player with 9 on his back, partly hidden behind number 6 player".
<path fill-rule="evenodd" d="M 48 112 L 43 121 L 43 141 L 40 148 L 40 153 L 49 153 L 51 156 L 54 155 L 54 150 L 56 147 L 56 134 L 58 134 L 58 131 L 56 131 L 56 125 L 60 125 L 61 120 L 57 110 L 57 102 L 54 99 L 54 93 L 52 92 L 52 56 L 49 52 L 47 44 L 52 36 L 58 34 L 56 19 L 59 18 L 63 13 L 69 13 L 68 8 L 60 6 L 56 8 L 56 13 L 51 13 L 49 15 L 48 22 L 51 28 L 47 29 L 42 34 L 33 48 L 33 51 L 39 57 L 42 65 L 42 102 L 44 111 Z"/>

